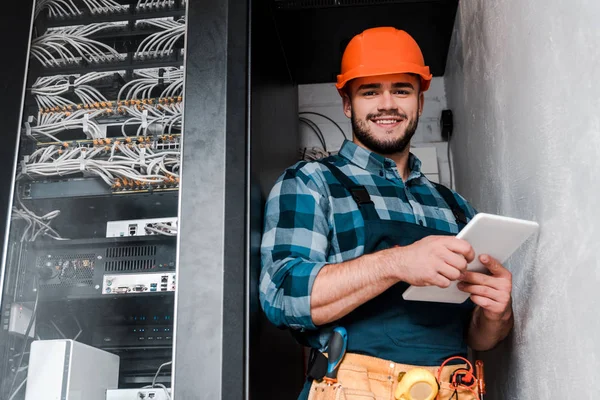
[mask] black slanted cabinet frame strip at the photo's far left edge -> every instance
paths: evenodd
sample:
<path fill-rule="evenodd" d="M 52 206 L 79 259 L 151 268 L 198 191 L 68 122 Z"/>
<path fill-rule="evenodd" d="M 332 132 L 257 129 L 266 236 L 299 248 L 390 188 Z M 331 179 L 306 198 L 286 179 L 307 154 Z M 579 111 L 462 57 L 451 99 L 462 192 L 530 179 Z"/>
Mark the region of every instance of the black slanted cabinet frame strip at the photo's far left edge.
<path fill-rule="evenodd" d="M 17 156 L 32 5 L 32 1 L 23 0 L 11 4 L 0 13 L 0 35 L 5 38 L 2 51 L 6 57 L 5 61 L 0 63 L 0 182 L 4 186 L 0 191 L 0 249 L 3 249 L 7 234 L 8 213 L 12 200 L 10 184 L 14 178 L 13 169 Z"/>

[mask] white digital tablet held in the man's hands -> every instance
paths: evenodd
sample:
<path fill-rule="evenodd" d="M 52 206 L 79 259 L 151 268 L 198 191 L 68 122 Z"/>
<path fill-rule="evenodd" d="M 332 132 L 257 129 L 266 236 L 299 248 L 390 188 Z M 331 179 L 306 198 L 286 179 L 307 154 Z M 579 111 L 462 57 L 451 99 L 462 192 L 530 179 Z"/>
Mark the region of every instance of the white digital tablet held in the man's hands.
<path fill-rule="evenodd" d="M 456 237 L 469 242 L 475 251 L 475 260 L 469 264 L 468 270 L 485 273 L 488 271 L 479 261 L 480 255 L 488 254 L 504 263 L 538 229 L 537 222 L 479 213 Z M 460 291 L 457 283 L 451 282 L 447 288 L 410 286 L 402 297 L 405 300 L 460 304 L 469 298 L 469 293 Z"/>

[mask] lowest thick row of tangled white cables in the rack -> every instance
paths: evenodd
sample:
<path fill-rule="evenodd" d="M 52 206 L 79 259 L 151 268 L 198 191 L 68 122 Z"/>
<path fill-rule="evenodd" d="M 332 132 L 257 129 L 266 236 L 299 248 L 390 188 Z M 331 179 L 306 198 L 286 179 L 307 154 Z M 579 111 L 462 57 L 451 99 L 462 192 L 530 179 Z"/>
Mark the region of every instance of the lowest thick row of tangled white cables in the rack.
<path fill-rule="evenodd" d="M 143 144 L 115 141 L 110 147 L 92 149 L 50 145 L 29 156 L 21 166 L 21 174 L 47 178 L 85 173 L 100 177 L 111 187 L 137 188 L 176 184 L 180 163 L 178 150 L 154 152 Z"/>

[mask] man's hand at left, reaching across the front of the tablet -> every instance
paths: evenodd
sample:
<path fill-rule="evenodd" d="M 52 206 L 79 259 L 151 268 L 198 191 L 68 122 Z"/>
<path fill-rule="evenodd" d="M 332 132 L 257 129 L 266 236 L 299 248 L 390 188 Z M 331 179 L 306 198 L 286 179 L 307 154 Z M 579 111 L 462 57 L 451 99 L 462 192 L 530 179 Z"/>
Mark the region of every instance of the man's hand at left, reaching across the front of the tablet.
<path fill-rule="evenodd" d="M 428 236 L 386 251 L 399 280 L 415 286 L 446 288 L 465 274 L 467 264 L 475 258 L 468 242 L 451 236 Z"/>

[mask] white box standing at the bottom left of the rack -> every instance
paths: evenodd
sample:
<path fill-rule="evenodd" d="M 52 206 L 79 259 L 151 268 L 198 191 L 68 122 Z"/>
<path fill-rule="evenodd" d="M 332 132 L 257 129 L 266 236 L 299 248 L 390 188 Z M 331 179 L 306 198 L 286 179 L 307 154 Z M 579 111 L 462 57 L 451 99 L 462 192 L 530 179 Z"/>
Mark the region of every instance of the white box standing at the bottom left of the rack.
<path fill-rule="evenodd" d="M 119 357 L 74 340 L 31 344 L 25 400 L 104 400 L 117 387 Z"/>

